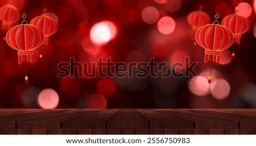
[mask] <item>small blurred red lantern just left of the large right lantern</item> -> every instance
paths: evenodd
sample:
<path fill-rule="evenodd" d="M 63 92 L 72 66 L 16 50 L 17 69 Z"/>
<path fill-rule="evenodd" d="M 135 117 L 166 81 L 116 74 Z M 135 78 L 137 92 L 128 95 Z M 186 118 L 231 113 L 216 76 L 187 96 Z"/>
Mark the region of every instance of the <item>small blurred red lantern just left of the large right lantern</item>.
<path fill-rule="evenodd" d="M 192 26 L 192 30 L 196 31 L 201 26 L 210 23 L 210 16 L 203 11 L 193 11 L 188 15 L 187 20 Z"/>

